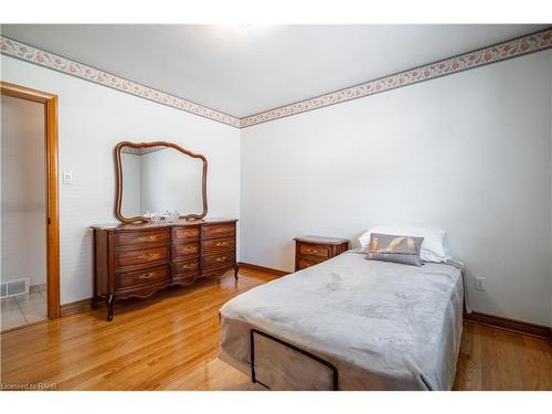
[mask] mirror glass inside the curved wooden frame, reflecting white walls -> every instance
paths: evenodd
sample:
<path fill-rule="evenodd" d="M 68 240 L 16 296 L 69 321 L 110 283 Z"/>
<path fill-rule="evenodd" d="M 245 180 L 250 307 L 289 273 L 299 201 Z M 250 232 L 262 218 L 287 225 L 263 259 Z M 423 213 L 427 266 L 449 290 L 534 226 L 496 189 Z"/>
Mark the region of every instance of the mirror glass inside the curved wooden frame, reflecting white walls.
<path fill-rule="evenodd" d="M 201 159 L 164 146 L 123 147 L 120 162 L 120 213 L 125 217 L 176 211 L 180 215 L 202 213 Z"/>

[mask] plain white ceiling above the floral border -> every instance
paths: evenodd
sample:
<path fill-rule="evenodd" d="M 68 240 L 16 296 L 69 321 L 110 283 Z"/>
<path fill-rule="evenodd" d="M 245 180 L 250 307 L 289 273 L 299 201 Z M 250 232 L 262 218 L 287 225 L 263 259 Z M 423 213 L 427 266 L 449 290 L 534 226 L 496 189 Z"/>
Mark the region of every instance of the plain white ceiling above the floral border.
<path fill-rule="evenodd" d="M 235 117 L 545 25 L 4 24 L 2 34 Z"/>

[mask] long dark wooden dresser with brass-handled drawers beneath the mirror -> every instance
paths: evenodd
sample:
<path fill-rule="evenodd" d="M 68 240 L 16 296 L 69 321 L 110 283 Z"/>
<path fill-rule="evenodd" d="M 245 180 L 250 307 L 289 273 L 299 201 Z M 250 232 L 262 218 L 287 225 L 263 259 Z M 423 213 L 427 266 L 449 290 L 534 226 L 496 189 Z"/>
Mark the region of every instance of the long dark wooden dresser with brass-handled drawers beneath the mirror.
<path fill-rule="evenodd" d="M 236 221 L 93 226 L 93 307 L 105 300 L 110 321 L 119 299 L 146 298 L 167 286 L 190 285 L 231 268 L 237 280 Z"/>

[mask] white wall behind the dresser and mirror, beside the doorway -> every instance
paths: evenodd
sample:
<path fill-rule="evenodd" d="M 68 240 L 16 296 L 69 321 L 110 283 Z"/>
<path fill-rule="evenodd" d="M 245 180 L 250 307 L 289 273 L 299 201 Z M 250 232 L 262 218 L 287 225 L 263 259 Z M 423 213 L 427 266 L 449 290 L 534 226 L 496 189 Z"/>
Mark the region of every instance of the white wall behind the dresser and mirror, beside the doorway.
<path fill-rule="evenodd" d="M 209 216 L 238 217 L 240 130 L 12 57 L 1 78 L 59 95 L 62 304 L 92 296 L 89 225 L 114 222 L 113 149 L 121 140 L 167 140 L 209 161 Z"/>

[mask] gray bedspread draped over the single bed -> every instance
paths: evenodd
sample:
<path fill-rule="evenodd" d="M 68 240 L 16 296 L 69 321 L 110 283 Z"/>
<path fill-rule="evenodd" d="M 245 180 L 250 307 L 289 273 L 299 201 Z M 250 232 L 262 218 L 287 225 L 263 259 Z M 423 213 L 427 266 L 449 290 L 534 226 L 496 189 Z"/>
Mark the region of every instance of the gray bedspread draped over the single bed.
<path fill-rule="evenodd" d="M 332 363 L 340 390 L 449 390 L 461 333 L 460 270 L 367 261 L 344 253 L 226 302 L 220 358 L 247 375 L 250 331 L 267 332 Z M 328 369 L 257 337 L 261 382 L 331 388 Z"/>

